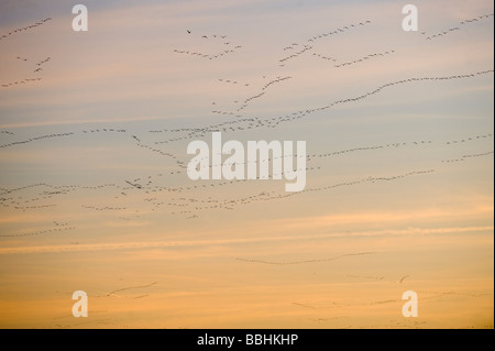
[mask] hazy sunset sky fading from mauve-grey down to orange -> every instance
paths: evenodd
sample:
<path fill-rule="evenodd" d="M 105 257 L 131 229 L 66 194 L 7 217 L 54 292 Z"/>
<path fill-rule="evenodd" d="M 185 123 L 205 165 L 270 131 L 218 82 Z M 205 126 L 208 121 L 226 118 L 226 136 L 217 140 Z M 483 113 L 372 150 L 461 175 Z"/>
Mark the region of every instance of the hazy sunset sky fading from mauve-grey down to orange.
<path fill-rule="evenodd" d="M 1 328 L 493 329 L 492 1 L 75 4 L 0 3 Z M 213 132 L 305 189 L 189 179 Z"/>

